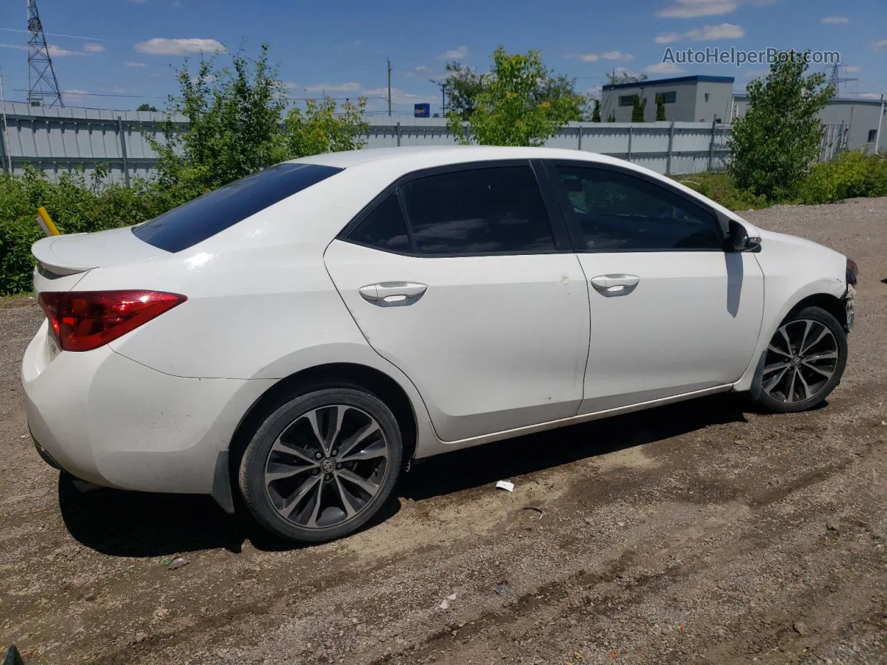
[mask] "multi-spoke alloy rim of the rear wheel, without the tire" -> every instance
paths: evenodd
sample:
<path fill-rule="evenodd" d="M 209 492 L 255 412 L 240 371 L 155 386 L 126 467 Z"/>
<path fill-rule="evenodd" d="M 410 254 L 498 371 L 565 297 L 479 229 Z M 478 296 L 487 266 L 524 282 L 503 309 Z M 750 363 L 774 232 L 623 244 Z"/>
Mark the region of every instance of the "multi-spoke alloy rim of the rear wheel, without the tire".
<path fill-rule="evenodd" d="M 389 470 L 379 422 L 347 404 L 303 413 L 271 446 L 264 488 L 271 505 L 303 528 L 352 520 L 379 492 Z"/>

